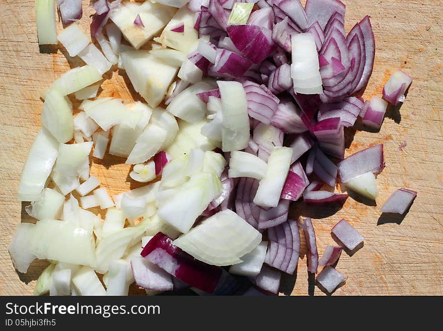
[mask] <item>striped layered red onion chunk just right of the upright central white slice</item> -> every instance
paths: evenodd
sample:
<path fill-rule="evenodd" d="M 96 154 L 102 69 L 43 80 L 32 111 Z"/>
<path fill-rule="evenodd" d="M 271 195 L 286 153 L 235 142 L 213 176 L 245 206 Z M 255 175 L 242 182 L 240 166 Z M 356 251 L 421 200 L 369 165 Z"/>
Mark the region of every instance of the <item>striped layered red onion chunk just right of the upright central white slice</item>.
<path fill-rule="evenodd" d="M 280 100 L 264 85 L 251 81 L 243 82 L 250 117 L 264 124 L 270 124 Z"/>

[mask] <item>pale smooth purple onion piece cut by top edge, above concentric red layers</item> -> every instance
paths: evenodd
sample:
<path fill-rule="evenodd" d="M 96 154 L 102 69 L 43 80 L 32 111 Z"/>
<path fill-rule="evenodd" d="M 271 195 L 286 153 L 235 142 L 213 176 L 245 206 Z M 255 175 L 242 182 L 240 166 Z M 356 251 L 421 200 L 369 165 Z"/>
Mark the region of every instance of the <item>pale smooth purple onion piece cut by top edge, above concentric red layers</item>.
<path fill-rule="evenodd" d="M 338 13 L 344 17 L 346 6 L 339 0 L 307 0 L 305 11 L 308 22 L 318 22 L 324 30 L 332 14 Z"/>

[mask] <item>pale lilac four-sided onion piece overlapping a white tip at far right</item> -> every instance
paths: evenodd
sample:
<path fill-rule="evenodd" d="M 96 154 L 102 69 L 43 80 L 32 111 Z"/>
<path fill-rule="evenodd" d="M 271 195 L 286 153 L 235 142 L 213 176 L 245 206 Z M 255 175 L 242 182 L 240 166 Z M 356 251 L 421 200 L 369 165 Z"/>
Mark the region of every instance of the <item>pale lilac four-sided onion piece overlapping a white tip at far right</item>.
<path fill-rule="evenodd" d="M 383 145 L 369 147 L 352 154 L 337 166 L 340 182 L 342 183 L 346 183 L 366 172 L 380 173 L 385 167 Z"/>

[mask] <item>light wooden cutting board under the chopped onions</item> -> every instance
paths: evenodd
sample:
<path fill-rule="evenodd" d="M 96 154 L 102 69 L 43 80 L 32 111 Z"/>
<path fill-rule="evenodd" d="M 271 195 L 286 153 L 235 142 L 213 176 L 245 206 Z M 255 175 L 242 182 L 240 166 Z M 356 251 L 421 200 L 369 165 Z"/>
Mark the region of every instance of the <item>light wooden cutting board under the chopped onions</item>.
<path fill-rule="evenodd" d="M 27 204 L 17 201 L 20 173 L 41 125 L 40 93 L 82 61 L 69 57 L 61 46 L 49 49 L 52 53 L 39 52 L 33 0 L 0 4 L 0 295 L 29 295 L 47 262 L 34 261 L 23 275 L 14 270 L 8 253 L 17 224 L 32 221 L 24 211 Z M 89 4 L 83 2 L 85 30 L 93 12 Z M 370 145 L 385 146 L 387 166 L 378 176 L 377 205 L 348 198 L 335 213 L 299 203 L 293 214 L 313 217 L 320 256 L 327 245 L 335 245 L 330 230 L 341 218 L 364 235 L 363 248 L 340 257 L 337 270 L 347 281 L 336 295 L 443 295 L 443 2 L 355 0 L 346 5 L 346 31 L 368 14 L 376 36 L 374 73 L 363 97 L 381 96 L 390 74 L 398 69 L 414 82 L 405 104 L 388 109 L 379 133 L 347 132 L 346 155 Z M 102 89 L 101 97 L 140 100 L 117 69 L 105 75 Z M 122 163 L 124 159 L 110 156 L 92 159 L 91 173 L 110 193 L 119 193 L 133 185 L 129 167 Z M 404 218 L 380 218 L 380 207 L 399 187 L 418 191 L 409 213 Z M 323 294 L 312 279 L 308 282 L 304 242 L 302 238 L 297 278 L 282 277 L 284 295 Z M 131 293 L 144 292 L 132 287 Z"/>

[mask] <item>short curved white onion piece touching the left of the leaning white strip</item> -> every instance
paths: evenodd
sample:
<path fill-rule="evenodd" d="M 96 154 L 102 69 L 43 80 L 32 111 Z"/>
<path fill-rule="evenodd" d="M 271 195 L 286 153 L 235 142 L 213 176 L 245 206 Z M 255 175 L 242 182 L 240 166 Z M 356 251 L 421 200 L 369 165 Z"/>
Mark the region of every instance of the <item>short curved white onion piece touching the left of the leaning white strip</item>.
<path fill-rule="evenodd" d="M 229 160 L 229 177 L 250 177 L 263 179 L 266 175 L 267 164 L 255 155 L 246 152 L 233 151 Z"/>

